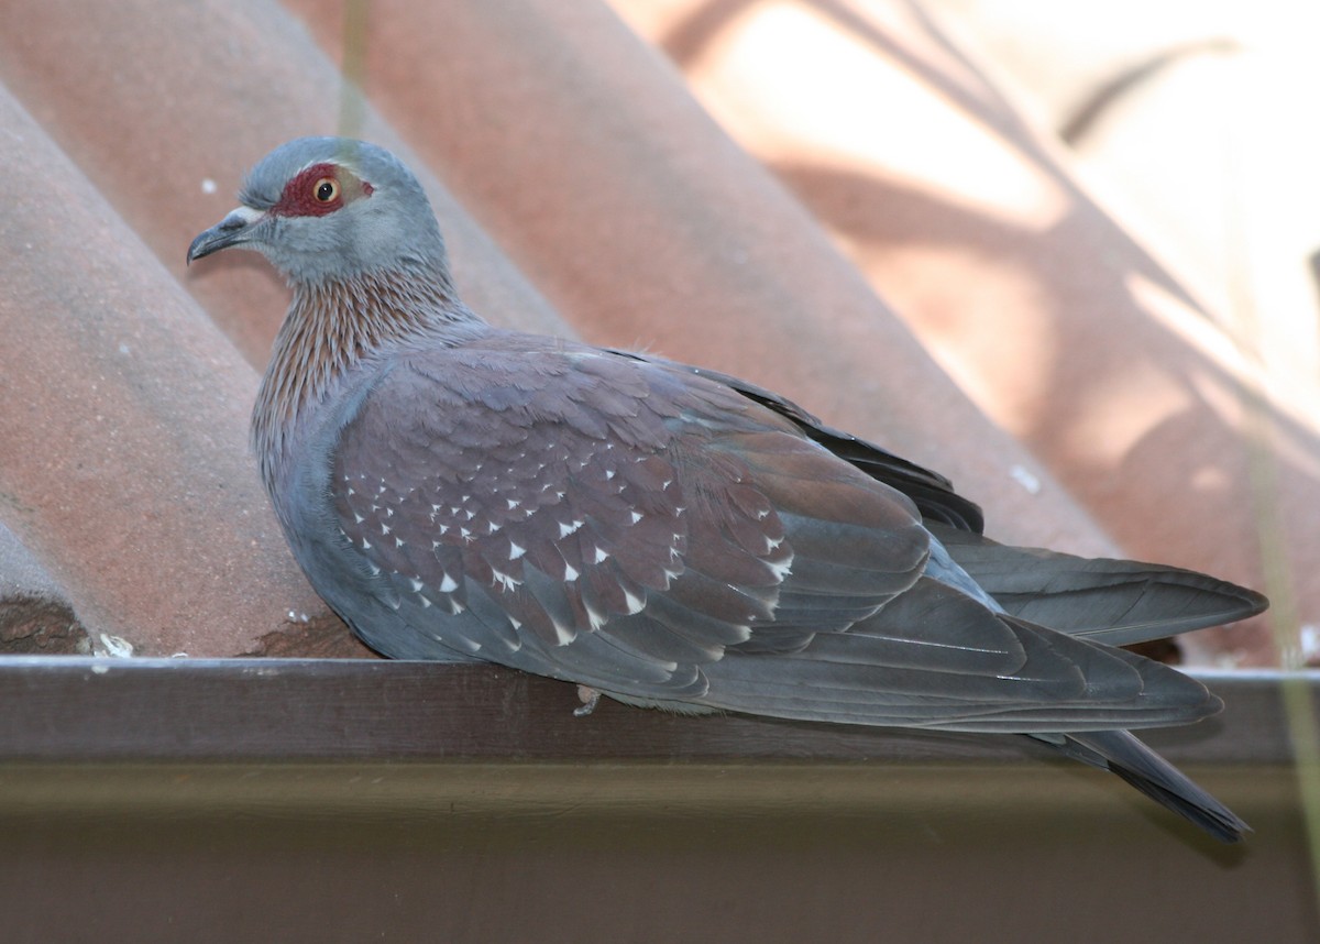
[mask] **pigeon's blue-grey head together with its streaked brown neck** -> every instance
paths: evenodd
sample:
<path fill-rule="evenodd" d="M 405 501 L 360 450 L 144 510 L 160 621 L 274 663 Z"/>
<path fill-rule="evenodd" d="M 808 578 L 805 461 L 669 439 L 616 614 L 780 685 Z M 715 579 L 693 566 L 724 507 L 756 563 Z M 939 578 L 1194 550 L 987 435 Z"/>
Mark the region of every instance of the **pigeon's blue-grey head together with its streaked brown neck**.
<path fill-rule="evenodd" d="M 484 330 L 457 296 L 445 240 L 417 178 L 384 148 L 301 137 L 257 161 L 239 206 L 187 248 L 187 261 L 256 250 L 293 288 L 252 412 L 268 487 L 290 429 L 331 404 L 341 379 L 401 343 Z"/>

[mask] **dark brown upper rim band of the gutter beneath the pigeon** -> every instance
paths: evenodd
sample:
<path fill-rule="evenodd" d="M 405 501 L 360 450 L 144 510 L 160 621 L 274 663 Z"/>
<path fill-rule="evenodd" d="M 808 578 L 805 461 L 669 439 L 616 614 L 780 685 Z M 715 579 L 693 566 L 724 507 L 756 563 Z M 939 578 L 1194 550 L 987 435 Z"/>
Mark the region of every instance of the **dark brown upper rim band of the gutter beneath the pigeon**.
<path fill-rule="evenodd" d="M 1144 731 L 1177 763 L 1286 763 L 1276 672 L 1200 676 L 1226 702 Z M 1320 673 L 1304 676 L 1312 693 Z M 1312 700 L 1315 704 L 1315 698 Z M 319 659 L 0 659 L 0 760 L 1008 760 L 1026 738 L 689 718 L 492 665 Z M 1048 751 L 1041 749 L 1041 755 Z"/>

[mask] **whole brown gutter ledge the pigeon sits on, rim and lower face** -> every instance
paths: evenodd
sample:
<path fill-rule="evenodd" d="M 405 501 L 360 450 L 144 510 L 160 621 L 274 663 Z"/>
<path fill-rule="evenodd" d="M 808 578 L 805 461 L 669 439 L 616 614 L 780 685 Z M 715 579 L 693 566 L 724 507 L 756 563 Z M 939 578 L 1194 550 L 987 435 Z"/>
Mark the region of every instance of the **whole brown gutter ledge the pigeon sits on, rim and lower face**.
<path fill-rule="evenodd" d="M 1204 677 L 1228 709 L 1147 739 L 1237 846 L 1020 737 L 577 718 L 488 665 L 5 657 L 5 939 L 1317 940 L 1282 679 Z"/>

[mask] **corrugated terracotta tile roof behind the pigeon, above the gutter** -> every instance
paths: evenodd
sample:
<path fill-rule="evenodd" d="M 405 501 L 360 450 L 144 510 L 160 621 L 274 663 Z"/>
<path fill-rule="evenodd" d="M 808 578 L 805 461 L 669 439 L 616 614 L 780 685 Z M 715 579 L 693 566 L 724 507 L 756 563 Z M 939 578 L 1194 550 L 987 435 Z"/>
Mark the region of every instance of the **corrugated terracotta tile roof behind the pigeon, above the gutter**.
<path fill-rule="evenodd" d="M 366 654 L 247 452 L 285 290 L 242 253 L 183 265 L 257 157 L 337 129 L 421 172 L 490 320 L 779 389 L 949 474 L 1002 540 L 1262 586 L 1263 527 L 1320 622 L 1317 401 L 1258 386 L 921 8 L 615 5 L 645 38 L 599 3 L 378 0 L 350 127 L 310 0 L 0 8 L 3 589 L 86 631 L 12 650 Z M 1271 652 L 1263 623 L 1213 636 Z"/>

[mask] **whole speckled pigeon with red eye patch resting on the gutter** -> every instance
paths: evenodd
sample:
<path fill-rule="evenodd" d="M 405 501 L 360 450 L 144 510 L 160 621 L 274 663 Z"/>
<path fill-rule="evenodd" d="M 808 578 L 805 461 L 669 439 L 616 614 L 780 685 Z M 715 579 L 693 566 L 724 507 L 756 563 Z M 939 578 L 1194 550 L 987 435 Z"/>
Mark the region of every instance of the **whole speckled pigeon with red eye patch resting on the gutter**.
<path fill-rule="evenodd" d="M 239 199 L 187 259 L 248 247 L 293 288 L 252 442 L 312 585 L 376 651 L 688 713 L 1030 734 L 1239 838 L 1125 730 L 1220 700 L 1115 647 L 1259 594 L 997 544 L 946 479 L 770 391 L 492 327 L 375 145 L 292 141 Z"/>

